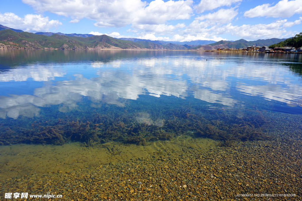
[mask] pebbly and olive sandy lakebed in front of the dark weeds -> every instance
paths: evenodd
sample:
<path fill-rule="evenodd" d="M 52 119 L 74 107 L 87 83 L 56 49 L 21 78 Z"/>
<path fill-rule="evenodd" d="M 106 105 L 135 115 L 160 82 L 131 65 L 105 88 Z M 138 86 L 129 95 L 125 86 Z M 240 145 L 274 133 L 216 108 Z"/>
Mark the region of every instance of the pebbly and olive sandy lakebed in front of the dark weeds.
<path fill-rule="evenodd" d="M 266 115 L 274 122 L 271 139 L 236 141 L 230 147 L 189 133 L 146 146 L 1 146 L 0 195 L 62 195 L 49 200 L 301 200 L 301 115 Z"/>

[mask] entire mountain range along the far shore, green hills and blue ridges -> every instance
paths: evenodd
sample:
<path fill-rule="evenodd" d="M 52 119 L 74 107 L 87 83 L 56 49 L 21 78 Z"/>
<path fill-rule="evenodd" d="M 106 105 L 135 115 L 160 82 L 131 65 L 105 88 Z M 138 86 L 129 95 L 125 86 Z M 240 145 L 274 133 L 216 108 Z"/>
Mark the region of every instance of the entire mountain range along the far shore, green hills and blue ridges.
<path fill-rule="evenodd" d="M 0 49 L 149 49 L 149 50 L 214 50 L 217 48 L 246 48 L 270 46 L 285 39 L 247 41 L 160 41 L 137 38 L 113 38 L 107 35 L 37 32 L 29 33 L 0 25 Z"/>

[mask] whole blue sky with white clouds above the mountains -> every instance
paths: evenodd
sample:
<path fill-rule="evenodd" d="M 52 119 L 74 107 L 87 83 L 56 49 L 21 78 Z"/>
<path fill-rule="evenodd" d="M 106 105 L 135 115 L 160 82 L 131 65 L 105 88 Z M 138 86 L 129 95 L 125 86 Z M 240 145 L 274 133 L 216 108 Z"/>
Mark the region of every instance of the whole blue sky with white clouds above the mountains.
<path fill-rule="evenodd" d="M 288 38 L 302 0 L 5 0 L 0 24 L 28 32 L 165 41 Z"/>

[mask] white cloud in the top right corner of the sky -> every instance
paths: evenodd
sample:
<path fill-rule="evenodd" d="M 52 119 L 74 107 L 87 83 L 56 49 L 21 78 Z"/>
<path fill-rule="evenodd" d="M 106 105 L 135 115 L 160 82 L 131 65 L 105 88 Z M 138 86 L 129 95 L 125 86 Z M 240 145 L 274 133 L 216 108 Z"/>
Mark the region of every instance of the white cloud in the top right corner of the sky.
<path fill-rule="evenodd" d="M 291 17 L 294 14 L 302 13 L 301 0 L 282 0 L 276 5 L 259 5 L 244 13 L 245 17 Z"/>

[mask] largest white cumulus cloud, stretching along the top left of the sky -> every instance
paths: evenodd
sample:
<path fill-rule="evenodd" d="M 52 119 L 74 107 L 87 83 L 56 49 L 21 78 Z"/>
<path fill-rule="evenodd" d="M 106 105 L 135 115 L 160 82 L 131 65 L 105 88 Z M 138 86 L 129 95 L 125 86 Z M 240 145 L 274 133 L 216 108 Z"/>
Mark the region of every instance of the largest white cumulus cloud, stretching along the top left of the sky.
<path fill-rule="evenodd" d="M 167 20 L 190 19 L 192 0 L 23 0 L 39 12 L 72 17 L 76 23 L 86 17 L 96 27 L 123 27 L 128 24 L 162 24 Z"/>

